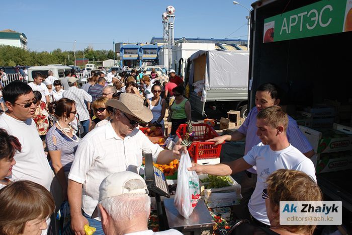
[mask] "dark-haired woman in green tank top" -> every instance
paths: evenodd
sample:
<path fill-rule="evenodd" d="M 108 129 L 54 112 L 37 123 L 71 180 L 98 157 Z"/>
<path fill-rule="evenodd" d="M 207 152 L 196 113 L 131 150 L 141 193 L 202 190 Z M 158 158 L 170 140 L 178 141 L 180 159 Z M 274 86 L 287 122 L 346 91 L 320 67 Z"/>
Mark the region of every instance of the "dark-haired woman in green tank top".
<path fill-rule="evenodd" d="M 176 134 L 176 130 L 180 124 L 192 121 L 191 118 L 191 104 L 183 96 L 185 92 L 184 87 L 178 86 L 172 89 L 174 102 L 171 105 L 171 135 Z"/>

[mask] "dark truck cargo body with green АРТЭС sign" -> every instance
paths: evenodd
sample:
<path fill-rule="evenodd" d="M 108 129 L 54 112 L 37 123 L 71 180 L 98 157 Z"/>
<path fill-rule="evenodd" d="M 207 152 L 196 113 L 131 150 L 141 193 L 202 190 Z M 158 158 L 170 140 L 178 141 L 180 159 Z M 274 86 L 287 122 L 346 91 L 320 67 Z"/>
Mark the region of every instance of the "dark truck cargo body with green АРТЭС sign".
<path fill-rule="evenodd" d="M 321 108 L 324 112 L 310 120 L 327 120 L 326 111 L 333 108 L 334 114 L 330 115 L 335 124 L 330 124 L 350 129 L 352 1 L 260 0 L 251 7 L 249 107 L 255 105 L 256 89 L 272 82 L 283 91 L 282 102 L 290 115 L 302 107 L 311 107 L 308 111 L 314 114 L 313 108 L 319 104 L 325 107 Z M 349 143 L 344 141 L 343 146 Z M 339 161 L 333 157 L 338 153 L 336 148 L 327 156 L 327 160 L 335 160 L 325 166 L 329 172 L 317 170 L 317 183 L 325 200 L 342 201 L 342 224 L 346 229 L 352 214 L 348 180 L 352 175 L 352 154 L 345 153 L 344 160 Z"/>

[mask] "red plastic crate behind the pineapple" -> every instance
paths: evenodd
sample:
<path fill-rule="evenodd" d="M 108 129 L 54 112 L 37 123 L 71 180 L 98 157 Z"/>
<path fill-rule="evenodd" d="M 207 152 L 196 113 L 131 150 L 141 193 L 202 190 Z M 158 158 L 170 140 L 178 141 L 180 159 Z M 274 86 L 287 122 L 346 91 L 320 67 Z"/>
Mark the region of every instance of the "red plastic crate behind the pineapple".
<path fill-rule="evenodd" d="M 187 124 L 181 124 L 176 134 L 179 138 L 183 138 L 186 131 Z M 217 136 L 219 135 L 212 126 L 205 123 L 193 124 L 193 141 L 199 142 L 193 142 L 191 146 L 188 147 L 188 152 L 195 163 L 197 163 L 198 159 L 220 158 L 222 143 L 213 146 L 215 142 L 205 142 L 205 140 Z"/>

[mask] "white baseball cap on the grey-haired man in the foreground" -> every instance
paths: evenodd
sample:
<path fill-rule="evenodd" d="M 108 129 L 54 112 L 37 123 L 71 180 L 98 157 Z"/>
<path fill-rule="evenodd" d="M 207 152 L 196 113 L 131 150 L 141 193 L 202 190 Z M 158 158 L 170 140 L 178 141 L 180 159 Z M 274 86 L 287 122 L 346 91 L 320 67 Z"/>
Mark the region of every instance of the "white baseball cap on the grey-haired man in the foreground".
<path fill-rule="evenodd" d="M 126 187 L 126 183 L 130 180 L 139 180 L 141 187 L 137 189 L 130 189 Z M 108 175 L 100 184 L 99 187 L 99 202 L 109 198 L 126 193 L 144 193 L 148 195 L 148 188 L 144 179 L 130 171 L 112 173 Z M 92 218 L 98 217 L 98 205 L 92 214 Z"/>

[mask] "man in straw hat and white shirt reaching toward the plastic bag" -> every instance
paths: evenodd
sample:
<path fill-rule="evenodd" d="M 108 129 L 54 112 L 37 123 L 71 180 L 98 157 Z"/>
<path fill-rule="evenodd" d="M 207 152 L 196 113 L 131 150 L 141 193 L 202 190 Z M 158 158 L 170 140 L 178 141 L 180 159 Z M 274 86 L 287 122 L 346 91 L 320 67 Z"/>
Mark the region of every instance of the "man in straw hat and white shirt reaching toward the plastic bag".
<path fill-rule="evenodd" d="M 68 175 L 71 226 L 76 234 L 84 234 L 84 224 L 96 227 L 95 234 L 104 234 L 100 217 L 92 218 L 92 214 L 98 204 L 99 186 L 109 174 L 138 172 L 143 153 L 151 153 L 158 164 L 167 164 L 180 159 L 186 150 L 181 139 L 172 150 L 164 150 L 136 128 L 139 120 L 149 122 L 153 117 L 141 97 L 121 94 L 119 100 L 111 99 L 107 106 L 113 108 L 111 121 L 81 140 Z"/>

